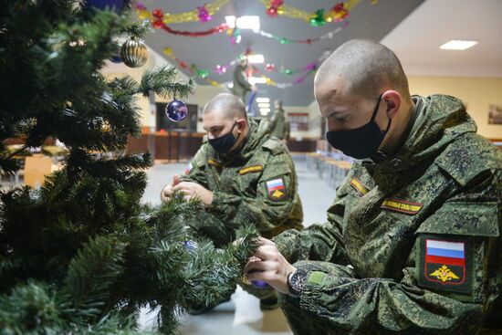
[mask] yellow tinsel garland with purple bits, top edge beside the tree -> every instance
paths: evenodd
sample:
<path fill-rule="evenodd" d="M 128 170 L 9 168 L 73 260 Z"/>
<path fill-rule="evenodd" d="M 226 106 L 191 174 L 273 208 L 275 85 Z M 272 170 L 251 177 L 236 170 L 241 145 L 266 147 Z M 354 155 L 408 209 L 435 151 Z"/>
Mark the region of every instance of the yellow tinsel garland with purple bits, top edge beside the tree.
<path fill-rule="evenodd" d="M 207 22 L 210 21 L 212 16 L 217 13 L 222 7 L 228 4 L 229 0 L 216 0 L 213 4 L 203 5 L 193 9 L 190 12 L 171 14 L 166 13 L 162 14 L 162 22 L 166 25 L 171 25 L 174 23 L 183 23 L 183 22 Z M 144 5 L 138 3 L 136 5 L 136 10 L 139 12 L 138 15 L 141 19 L 152 18 L 152 13 L 150 13 Z"/>

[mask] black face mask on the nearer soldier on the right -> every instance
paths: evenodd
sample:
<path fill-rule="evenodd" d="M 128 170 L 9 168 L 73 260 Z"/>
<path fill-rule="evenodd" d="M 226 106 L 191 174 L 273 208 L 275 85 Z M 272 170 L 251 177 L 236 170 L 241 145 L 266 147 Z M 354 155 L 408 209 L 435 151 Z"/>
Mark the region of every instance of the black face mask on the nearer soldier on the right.
<path fill-rule="evenodd" d="M 326 132 L 326 139 L 329 141 L 329 144 L 331 144 L 333 148 L 356 159 L 368 158 L 375 154 L 380 144 L 382 144 L 385 134 L 389 131 L 389 128 L 391 128 L 392 121 L 392 119 L 389 119 L 385 131 L 382 131 L 374 121 L 381 100 L 382 95 L 378 97 L 377 105 L 371 115 L 371 120 L 362 127 L 350 131 Z"/>

